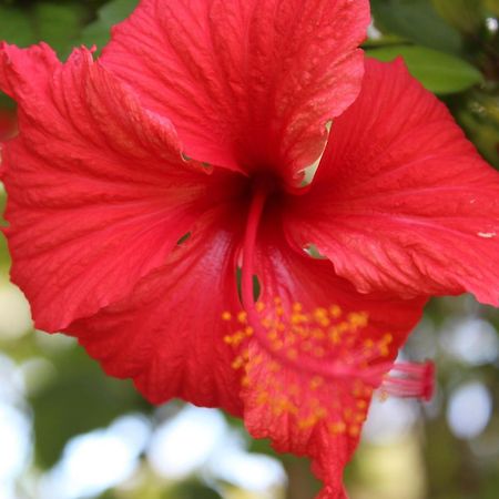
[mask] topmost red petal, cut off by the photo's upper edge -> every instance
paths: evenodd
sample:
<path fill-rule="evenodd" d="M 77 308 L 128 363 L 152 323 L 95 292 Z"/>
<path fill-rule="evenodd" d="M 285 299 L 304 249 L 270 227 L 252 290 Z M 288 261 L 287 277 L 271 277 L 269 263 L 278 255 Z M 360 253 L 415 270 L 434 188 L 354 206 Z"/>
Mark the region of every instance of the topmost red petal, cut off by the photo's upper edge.
<path fill-rule="evenodd" d="M 291 180 L 359 91 L 368 22 L 366 0 L 144 0 L 101 60 L 190 156 Z"/>

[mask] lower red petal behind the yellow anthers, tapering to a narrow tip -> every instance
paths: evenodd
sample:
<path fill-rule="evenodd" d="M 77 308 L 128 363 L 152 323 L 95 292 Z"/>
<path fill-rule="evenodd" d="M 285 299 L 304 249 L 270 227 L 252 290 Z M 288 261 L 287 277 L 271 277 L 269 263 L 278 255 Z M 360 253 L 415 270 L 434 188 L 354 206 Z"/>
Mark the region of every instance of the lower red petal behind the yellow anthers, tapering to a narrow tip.
<path fill-rule="evenodd" d="M 394 360 L 420 317 L 422 301 L 359 295 L 329 262 L 283 247 L 272 231 L 261 247 L 256 309 L 272 348 L 293 361 L 269 355 L 257 333 L 240 347 L 236 364 L 246 370 L 244 419 L 254 437 L 271 438 L 278 451 L 314 460 L 326 486 L 322 498 L 343 498 L 343 469 L 385 370 L 373 379 L 369 373 Z M 310 363 L 345 374 L 317 376 L 305 369 Z"/>

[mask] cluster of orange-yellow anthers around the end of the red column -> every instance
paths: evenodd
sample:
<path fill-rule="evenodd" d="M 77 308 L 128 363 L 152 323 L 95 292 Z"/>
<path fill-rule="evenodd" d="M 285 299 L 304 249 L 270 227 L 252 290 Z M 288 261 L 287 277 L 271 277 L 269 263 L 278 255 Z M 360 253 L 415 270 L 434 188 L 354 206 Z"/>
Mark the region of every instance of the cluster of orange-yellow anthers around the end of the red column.
<path fill-rule="evenodd" d="M 276 296 L 256 302 L 254 312 L 256 324 L 244 310 L 222 314 L 234 325 L 234 333 L 223 337 L 234 349 L 232 367 L 242 387 L 255 394 L 253 403 L 267 410 L 267 417 L 285 416 L 304 431 L 324 421 L 333 435 L 358 437 L 374 388 L 355 373 L 389 356 L 393 335 L 374 336 L 366 329 L 366 312 L 343 310 L 337 304 L 306 308 Z M 325 373 L 332 366 L 332 378 L 319 368 L 302 369 L 307 363 L 324 365 Z M 344 368 L 338 379 L 334 366 Z"/>

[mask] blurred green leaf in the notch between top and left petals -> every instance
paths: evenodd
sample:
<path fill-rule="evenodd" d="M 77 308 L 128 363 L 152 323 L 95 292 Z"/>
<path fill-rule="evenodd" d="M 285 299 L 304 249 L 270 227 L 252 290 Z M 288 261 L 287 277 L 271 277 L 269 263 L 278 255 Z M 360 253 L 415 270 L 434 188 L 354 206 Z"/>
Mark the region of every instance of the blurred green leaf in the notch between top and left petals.
<path fill-rule="evenodd" d="M 110 39 L 111 28 L 129 17 L 138 0 L 112 0 L 98 11 L 96 21 L 90 23 L 79 39 L 80 44 L 102 49 Z"/>

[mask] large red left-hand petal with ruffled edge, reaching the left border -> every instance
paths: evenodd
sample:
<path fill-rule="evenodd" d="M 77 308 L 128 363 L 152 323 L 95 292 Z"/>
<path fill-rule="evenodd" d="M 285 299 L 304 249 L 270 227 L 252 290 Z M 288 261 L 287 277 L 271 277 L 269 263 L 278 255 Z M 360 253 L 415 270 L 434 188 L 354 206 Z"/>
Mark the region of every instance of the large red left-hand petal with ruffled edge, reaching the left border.
<path fill-rule="evenodd" d="M 3 43 L 0 88 L 19 103 L 2 151 L 11 276 L 37 327 L 58 330 L 162 265 L 216 175 L 86 50 L 61 64 L 47 45 Z"/>

